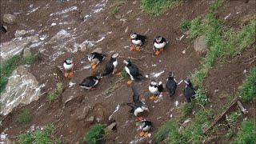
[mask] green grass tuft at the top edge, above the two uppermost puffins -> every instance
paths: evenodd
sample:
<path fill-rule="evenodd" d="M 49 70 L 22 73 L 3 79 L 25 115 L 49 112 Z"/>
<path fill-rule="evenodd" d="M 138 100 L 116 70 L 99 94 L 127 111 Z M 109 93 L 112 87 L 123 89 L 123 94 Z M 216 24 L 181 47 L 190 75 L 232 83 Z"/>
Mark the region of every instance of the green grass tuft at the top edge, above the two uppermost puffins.
<path fill-rule="evenodd" d="M 178 0 L 142 0 L 141 6 L 148 14 L 163 14 L 170 6 L 178 4 Z"/>

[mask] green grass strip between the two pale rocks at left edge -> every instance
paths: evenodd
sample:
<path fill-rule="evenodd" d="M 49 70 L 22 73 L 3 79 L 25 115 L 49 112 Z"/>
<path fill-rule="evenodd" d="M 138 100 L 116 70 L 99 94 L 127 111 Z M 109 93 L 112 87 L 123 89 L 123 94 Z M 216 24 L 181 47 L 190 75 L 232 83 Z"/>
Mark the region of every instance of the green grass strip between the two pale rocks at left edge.
<path fill-rule="evenodd" d="M 32 62 L 38 60 L 38 58 L 38 54 L 35 54 L 25 58 L 15 55 L 6 59 L 6 61 L 0 65 L 0 93 L 2 90 L 5 90 L 8 78 L 18 66 L 31 64 Z"/>

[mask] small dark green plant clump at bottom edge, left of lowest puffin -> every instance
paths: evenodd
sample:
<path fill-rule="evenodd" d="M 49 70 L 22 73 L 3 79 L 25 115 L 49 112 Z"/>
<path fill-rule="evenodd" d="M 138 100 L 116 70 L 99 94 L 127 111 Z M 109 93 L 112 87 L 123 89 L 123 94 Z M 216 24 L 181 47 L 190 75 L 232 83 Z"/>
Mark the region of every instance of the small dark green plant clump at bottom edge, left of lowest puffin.
<path fill-rule="evenodd" d="M 86 133 L 86 138 L 84 138 L 84 142 L 88 144 L 96 144 L 98 143 L 100 138 L 103 138 L 105 126 L 102 124 L 94 124 L 90 126 L 90 130 Z"/>

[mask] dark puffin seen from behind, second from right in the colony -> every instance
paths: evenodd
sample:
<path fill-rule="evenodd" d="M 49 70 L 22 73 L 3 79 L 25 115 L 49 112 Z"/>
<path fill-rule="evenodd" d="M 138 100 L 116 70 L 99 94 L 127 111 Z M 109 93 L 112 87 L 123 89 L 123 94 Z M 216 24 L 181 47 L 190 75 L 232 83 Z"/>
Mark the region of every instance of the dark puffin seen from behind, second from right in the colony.
<path fill-rule="evenodd" d="M 174 73 L 170 72 L 168 78 L 166 79 L 166 89 L 169 93 L 169 98 L 173 98 L 175 90 L 177 89 L 177 82 L 174 78 Z"/>

